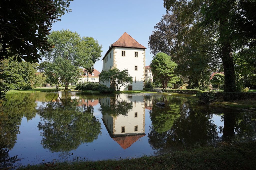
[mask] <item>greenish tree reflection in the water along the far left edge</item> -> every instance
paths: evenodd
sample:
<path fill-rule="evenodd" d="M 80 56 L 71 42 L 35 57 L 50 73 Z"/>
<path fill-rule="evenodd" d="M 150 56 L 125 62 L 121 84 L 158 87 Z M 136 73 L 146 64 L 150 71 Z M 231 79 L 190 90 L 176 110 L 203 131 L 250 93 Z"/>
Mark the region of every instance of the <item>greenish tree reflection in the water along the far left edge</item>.
<path fill-rule="evenodd" d="M 16 143 L 22 118 L 30 120 L 36 115 L 36 97 L 33 93 L 7 94 L 7 100 L 0 103 L 0 168 L 18 161 L 8 153 Z"/>

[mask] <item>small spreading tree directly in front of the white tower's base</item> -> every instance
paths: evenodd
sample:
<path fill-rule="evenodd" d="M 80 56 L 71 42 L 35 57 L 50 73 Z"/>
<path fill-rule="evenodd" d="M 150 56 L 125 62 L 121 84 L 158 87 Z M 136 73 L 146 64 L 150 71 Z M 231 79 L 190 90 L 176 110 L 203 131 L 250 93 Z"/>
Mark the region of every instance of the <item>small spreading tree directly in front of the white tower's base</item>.
<path fill-rule="evenodd" d="M 117 68 L 113 68 L 109 71 L 102 71 L 99 78 L 103 83 L 110 82 L 110 84 L 115 86 L 118 91 L 120 91 L 122 86 L 126 86 L 133 82 L 133 78 L 129 75 L 128 69 L 120 71 Z"/>

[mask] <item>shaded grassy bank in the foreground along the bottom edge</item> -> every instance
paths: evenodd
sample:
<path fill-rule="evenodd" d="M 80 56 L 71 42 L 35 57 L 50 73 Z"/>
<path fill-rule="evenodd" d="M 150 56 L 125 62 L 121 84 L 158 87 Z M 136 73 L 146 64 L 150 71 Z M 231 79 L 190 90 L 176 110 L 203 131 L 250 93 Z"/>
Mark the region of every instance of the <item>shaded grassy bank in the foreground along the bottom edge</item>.
<path fill-rule="evenodd" d="M 256 169 L 256 142 L 196 148 L 132 160 L 76 161 L 21 169 Z"/>

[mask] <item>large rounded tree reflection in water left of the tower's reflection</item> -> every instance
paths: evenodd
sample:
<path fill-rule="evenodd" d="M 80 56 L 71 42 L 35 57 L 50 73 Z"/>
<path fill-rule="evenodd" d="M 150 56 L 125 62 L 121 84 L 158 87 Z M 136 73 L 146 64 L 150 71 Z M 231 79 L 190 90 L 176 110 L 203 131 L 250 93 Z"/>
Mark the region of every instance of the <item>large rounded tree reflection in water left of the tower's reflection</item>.
<path fill-rule="evenodd" d="M 40 107 L 38 114 L 43 130 L 41 144 L 52 152 L 70 151 L 81 143 L 92 142 L 101 133 L 101 125 L 93 116 L 93 107 L 83 104 L 78 107 L 79 100 L 71 99 L 70 93 L 65 93 L 60 100 L 51 101 L 46 107 Z"/>

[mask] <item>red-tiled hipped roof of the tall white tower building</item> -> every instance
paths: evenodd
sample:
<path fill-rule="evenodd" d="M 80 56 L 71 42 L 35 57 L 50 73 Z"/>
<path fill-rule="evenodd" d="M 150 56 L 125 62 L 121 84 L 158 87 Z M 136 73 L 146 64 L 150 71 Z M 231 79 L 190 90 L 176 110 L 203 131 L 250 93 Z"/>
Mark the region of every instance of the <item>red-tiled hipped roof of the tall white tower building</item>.
<path fill-rule="evenodd" d="M 141 48 L 141 49 L 146 49 L 143 45 L 138 43 L 133 37 L 131 37 L 129 34 L 126 32 L 123 33 L 123 35 L 113 44 L 110 45 L 109 50 L 106 52 L 104 57 L 109 53 L 110 49 L 112 47 L 127 47 L 127 48 Z M 104 59 L 102 58 L 102 60 Z"/>

